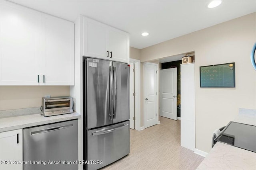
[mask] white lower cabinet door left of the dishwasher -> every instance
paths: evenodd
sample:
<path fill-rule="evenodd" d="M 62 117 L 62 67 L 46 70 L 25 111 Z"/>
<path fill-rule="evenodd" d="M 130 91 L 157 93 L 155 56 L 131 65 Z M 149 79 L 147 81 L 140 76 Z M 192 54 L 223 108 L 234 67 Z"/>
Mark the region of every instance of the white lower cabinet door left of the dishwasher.
<path fill-rule="evenodd" d="M 22 170 L 22 164 L 13 162 L 22 161 L 22 129 L 1 132 L 0 150 L 1 161 L 7 161 L 1 162 L 1 170 Z"/>

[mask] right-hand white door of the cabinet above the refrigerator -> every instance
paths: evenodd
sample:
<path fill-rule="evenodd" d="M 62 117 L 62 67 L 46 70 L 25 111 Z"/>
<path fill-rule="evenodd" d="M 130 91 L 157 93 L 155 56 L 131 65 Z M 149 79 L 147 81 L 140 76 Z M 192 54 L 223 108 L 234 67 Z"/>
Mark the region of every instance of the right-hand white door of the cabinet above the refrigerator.
<path fill-rule="evenodd" d="M 129 34 L 109 27 L 110 59 L 129 63 Z"/>

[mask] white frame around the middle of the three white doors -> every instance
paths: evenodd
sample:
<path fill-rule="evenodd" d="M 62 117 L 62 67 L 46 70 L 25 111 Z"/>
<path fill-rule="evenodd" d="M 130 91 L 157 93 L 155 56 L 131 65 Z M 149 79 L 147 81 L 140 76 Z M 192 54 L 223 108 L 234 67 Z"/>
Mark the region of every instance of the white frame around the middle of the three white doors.
<path fill-rule="evenodd" d="M 146 98 L 145 97 L 145 64 L 151 64 L 151 65 L 154 65 L 156 66 L 156 111 L 157 111 L 157 116 L 156 116 L 156 125 L 157 124 L 160 124 L 160 121 L 159 120 L 159 98 L 158 98 L 158 84 L 159 84 L 159 77 L 158 77 L 158 74 L 159 74 L 159 64 L 157 63 L 150 63 L 150 62 L 145 62 L 143 63 L 143 114 L 144 114 L 144 125 L 142 127 L 142 129 L 146 128 L 146 109 L 145 109 L 145 104 L 144 104 L 144 99 Z"/>

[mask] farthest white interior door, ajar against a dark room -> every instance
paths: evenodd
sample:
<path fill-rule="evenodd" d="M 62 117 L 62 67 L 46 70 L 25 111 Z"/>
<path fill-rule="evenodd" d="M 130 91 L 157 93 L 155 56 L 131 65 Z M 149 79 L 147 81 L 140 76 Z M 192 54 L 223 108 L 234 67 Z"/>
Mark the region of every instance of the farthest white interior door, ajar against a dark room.
<path fill-rule="evenodd" d="M 160 116 L 177 120 L 177 68 L 160 70 Z"/>

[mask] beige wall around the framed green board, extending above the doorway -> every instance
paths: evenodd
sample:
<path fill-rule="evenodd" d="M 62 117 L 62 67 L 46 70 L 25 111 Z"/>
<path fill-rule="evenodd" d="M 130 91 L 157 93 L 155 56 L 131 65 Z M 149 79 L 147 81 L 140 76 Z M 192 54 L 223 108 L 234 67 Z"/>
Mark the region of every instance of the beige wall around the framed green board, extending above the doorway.
<path fill-rule="evenodd" d="M 256 13 L 226 21 L 141 49 L 141 61 L 194 51 L 196 149 L 209 152 L 212 132 L 238 115 L 238 108 L 256 109 L 256 71 L 250 62 L 256 41 Z M 200 88 L 199 66 L 236 63 L 236 88 Z"/>

